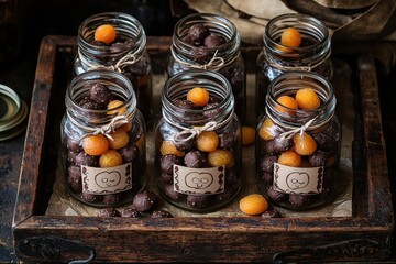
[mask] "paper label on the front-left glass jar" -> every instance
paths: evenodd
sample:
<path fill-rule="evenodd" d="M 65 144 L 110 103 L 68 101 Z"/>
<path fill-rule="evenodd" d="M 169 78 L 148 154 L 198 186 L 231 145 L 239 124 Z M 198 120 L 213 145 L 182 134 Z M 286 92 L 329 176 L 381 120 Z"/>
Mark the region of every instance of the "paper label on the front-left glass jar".
<path fill-rule="evenodd" d="M 132 164 L 114 167 L 81 166 L 82 191 L 95 195 L 117 194 L 132 189 Z"/>

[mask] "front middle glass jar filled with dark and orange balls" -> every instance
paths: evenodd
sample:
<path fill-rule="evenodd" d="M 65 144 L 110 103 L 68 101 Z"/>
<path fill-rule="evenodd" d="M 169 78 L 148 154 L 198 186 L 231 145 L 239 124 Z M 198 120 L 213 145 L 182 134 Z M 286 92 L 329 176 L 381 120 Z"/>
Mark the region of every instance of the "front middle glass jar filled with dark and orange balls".
<path fill-rule="evenodd" d="M 186 99 L 196 87 L 210 95 L 205 107 Z M 161 99 L 162 117 L 155 129 L 160 194 L 197 212 L 229 204 L 242 186 L 241 128 L 230 82 L 212 70 L 182 72 L 166 81 Z"/>

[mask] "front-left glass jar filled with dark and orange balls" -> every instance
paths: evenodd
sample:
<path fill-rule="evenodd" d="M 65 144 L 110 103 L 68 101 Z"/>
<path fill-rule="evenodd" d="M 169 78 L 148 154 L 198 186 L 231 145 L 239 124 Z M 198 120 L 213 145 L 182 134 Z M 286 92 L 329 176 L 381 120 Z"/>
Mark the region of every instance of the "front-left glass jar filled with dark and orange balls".
<path fill-rule="evenodd" d="M 65 103 L 66 189 L 95 207 L 131 201 L 145 184 L 145 122 L 131 81 L 117 72 L 86 72 L 67 87 Z"/>

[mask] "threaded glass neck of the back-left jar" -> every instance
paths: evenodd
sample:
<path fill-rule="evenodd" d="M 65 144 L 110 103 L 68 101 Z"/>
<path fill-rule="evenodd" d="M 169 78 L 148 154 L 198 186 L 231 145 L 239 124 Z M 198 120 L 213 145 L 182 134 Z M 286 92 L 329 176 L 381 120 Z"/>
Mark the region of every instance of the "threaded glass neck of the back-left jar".
<path fill-rule="evenodd" d="M 117 38 L 111 45 L 95 42 L 95 31 L 102 24 L 111 24 Z M 119 13 L 99 13 L 86 19 L 78 29 L 78 53 L 88 69 L 122 72 L 124 66 L 138 62 L 145 52 L 146 35 L 141 23 L 133 16 Z"/>

